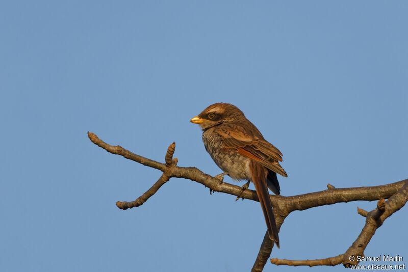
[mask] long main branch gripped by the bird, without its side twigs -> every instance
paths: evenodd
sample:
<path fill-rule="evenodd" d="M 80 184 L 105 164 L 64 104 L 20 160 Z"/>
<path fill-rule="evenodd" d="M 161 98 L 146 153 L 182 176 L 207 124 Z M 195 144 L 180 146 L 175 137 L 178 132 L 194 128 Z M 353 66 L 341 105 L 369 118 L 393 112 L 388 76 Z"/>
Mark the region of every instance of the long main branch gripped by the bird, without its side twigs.
<path fill-rule="evenodd" d="M 165 164 L 132 153 L 131 151 L 126 150 L 121 146 L 109 145 L 100 140 L 96 136 L 96 134 L 92 132 L 88 132 L 88 137 L 92 141 L 92 143 L 112 154 L 121 155 L 127 159 L 139 162 L 142 165 L 161 170 L 162 172 L 166 170 Z M 172 177 L 186 178 L 192 181 L 196 181 L 205 185 L 206 187 L 211 188 L 214 192 L 221 192 L 236 197 L 239 196 L 243 199 L 259 201 L 255 191 L 251 189 L 245 189 L 244 191 L 242 191 L 241 187 L 226 182 L 220 182 L 219 179 L 201 172 L 195 167 L 176 167 L 172 173 Z M 292 197 L 271 196 L 271 202 L 273 205 L 280 204 L 282 206 L 281 209 L 289 214 L 289 212 L 293 210 L 304 210 L 339 202 L 349 202 L 357 200 L 374 201 L 381 198 L 386 199 L 392 196 L 399 188 L 401 188 L 404 182 L 405 180 L 380 186 L 334 188 Z M 286 206 L 286 208 L 284 208 L 284 206 Z"/>

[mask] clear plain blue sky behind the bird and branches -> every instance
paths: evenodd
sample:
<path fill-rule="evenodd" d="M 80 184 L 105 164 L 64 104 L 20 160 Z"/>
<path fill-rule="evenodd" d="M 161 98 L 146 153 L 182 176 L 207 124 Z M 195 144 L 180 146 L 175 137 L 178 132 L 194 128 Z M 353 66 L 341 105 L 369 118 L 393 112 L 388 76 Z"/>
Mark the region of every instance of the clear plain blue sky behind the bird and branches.
<path fill-rule="evenodd" d="M 283 152 L 285 196 L 408 178 L 407 14 L 406 1 L 3 1 L 0 270 L 251 268 L 259 203 L 174 178 L 119 210 L 161 172 L 88 130 L 160 161 L 175 141 L 180 166 L 216 175 L 189 120 L 230 102 Z M 375 205 L 294 212 L 272 256 L 344 253 L 365 223 L 357 206 Z M 408 263 L 407 217 L 391 216 L 366 256 Z M 276 269 L 344 268 L 265 271 Z"/>

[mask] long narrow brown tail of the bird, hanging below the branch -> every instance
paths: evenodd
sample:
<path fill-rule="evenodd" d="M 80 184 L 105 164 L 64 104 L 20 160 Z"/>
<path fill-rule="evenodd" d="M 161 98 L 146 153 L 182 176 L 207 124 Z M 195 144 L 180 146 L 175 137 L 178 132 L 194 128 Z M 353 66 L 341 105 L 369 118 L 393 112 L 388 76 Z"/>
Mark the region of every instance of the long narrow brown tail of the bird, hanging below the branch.
<path fill-rule="evenodd" d="M 268 170 L 258 162 L 252 161 L 250 165 L 250 172 L 252 183 L 255 185 L 259 203 L 261 203 L 262 211 L 264 212 L 269 238 L 275 241 L 276 246 L 279 248 L 279 236 L 267 186 Z"/>

